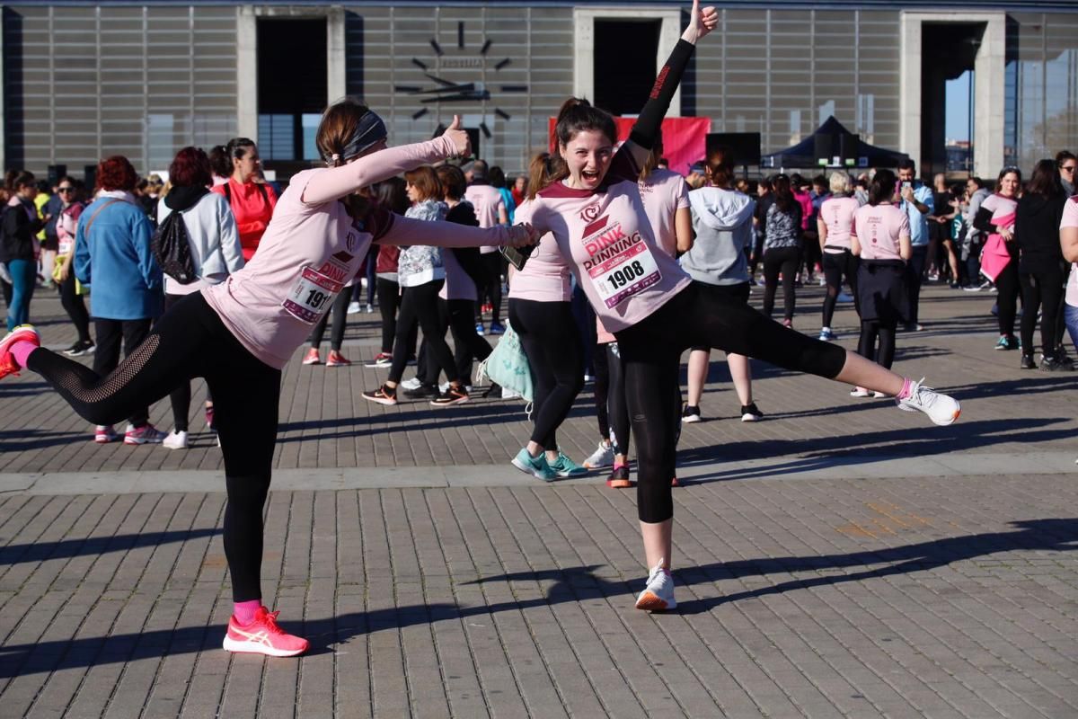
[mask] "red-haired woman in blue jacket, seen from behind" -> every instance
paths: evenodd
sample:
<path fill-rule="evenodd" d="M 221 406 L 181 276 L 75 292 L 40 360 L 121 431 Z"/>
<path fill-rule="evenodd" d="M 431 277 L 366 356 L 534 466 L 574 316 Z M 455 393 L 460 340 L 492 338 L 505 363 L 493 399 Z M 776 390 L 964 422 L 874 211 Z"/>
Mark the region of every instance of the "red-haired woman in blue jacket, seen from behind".
<path fill-rule="evenodd" d="M 146 340 L 165 305 L 161 267 L 150 250 L 153 227 L 132 194 L 137 180 L 126 157 L 102 160 L 97 166 L 96 198 L 83 210 L 75 231 L 74 274 L 93 288 L 89 312 L 97 334 L 94 372 L 102 377 L 120 364 L 121 340 L 125 356 L 130 355 Z M 128 421 L 124 444 L 165 439 L 165 432 L 150 424 L 147 406 L 139 407 Z M 119 439 L 109 426 L 94 431 L 98 444 Z"/>

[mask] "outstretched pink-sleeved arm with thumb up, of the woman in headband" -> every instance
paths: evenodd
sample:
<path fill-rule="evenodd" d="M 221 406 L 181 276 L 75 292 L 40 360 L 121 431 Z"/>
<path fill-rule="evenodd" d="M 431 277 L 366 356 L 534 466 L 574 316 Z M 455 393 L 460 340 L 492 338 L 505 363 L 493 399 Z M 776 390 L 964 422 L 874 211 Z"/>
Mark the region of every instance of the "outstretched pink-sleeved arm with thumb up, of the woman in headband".
<path fill-rule="evenodd" d="M 303 202 L 306 205 L 330 203 L 419 165 L 468 154 L 470 147 L 468 133 L 460 128 L 460 117 L 455 115 L 445 134 L 433 140 L 387 148 L 363 155 L 347 165 L 317 172 L 303 190 Z"/>

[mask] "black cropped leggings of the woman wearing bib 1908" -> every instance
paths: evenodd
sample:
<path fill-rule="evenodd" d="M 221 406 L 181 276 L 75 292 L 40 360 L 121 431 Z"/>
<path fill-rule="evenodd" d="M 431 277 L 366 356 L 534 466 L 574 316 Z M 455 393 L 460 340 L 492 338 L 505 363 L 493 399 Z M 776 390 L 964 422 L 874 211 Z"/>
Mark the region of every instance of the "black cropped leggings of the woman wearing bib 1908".
<path fill-rule="evenodd" d="M 681 352 L 707 346 L 787 370 L 834 378 L 846 350 L 784 328 L 750 307 L 723 304 L 689 285 L 644 321 L 616 333 L 625 368 L 628 415 L 636 435 L 637 512 L 641 522 L 674 515 L 675 420 Z"/>

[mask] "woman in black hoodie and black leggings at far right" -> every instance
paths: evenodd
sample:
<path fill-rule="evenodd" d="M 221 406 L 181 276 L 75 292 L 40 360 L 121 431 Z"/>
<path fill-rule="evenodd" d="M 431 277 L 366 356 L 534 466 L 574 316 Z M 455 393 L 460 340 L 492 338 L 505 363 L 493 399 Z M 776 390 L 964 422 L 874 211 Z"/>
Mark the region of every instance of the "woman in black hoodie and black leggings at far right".
<path fill-rule="evenodd" d="M 1036 367 L 1033 360 L 1033 330 L 1037 326 L 1040 307 L 1044 307 L 1040 369 L 1053 372 L 1074 369 L 1060 355 L 1056 334 L 1063 281 L 1066 278 L 1066 263 L 1060 249 L 1060 221 L 1066 202 L 1055 162 L 1041 160 L 1033 170 L 1025 194 L 1018 201 L 1014 217 L 1014 241 L 1021 252 L 1019 282 L 1022 286 L 1023 370 Z"/>

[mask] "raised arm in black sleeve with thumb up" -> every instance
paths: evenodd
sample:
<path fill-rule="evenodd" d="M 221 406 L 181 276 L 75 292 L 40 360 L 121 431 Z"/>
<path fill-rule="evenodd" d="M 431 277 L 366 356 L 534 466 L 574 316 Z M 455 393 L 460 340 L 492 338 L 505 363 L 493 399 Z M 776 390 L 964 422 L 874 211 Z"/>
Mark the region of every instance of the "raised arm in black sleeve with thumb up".
<path fill-rule="evenodd" d="M 674 46 L 671 56 L 659 70 L 655 84 L 651 88 L 648 101 L 640 110 L 640 114 L 633 125 L 633 130 L 628 135 L 628 140 L 621 150 L 628 150 L 633 153 L 638 166 L 642 166 L 648 153 L 654 146 L 659 129 L 662 127 L 663 117 L 671 107 L 671 99 L 677 92 L 677 86 L 681 83 L 681 75 L 689 65 L 693 49 L 696 43 L 719 24 L 719 14 L 715 8 L 700 8 L 700 0 L 692 0 L 692 13 L 689 18 L 689 27 L 681 33 L 681 39 Z"/>

